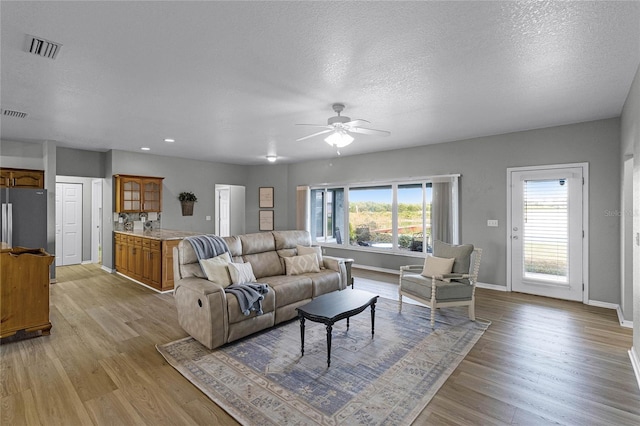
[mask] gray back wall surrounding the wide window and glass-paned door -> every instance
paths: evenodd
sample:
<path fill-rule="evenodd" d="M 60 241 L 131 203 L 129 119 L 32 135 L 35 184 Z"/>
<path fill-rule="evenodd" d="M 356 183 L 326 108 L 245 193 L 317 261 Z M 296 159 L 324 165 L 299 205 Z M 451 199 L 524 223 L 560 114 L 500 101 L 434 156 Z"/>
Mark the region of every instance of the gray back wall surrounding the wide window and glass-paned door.
<path fill-rule="evenodd" d="M 356 142 L 357 143 L 357 142 Z M 289 211 L 297 185 L 367 182 L 460 173 L 461 240 L 484 249 L 479 281 L 506 285 L 506 170 L 508 167 L 588 162 L 590 171 L 590 288 L 592 300 L 619 303 L 620 227 L 605 215 L 620 206 L 620 120 L 599 120 L 289 167 Z M 487 219 L 500 226 L 488 228 Z M 289 227 L 295 227 L 290 216 Z M 395 269 L 415 258 L 329 251 L 356 263 Z"/>

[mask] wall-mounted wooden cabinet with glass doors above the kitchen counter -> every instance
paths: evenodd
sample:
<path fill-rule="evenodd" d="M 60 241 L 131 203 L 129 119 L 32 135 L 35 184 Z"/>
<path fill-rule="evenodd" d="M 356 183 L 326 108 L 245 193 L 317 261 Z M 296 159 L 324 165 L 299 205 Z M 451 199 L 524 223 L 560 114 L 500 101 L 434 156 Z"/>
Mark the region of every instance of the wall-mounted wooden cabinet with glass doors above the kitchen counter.
<path fill-rule="evenodd" d="M 116 212 L 161 212 L 161 177 L 114 175 Z"/>

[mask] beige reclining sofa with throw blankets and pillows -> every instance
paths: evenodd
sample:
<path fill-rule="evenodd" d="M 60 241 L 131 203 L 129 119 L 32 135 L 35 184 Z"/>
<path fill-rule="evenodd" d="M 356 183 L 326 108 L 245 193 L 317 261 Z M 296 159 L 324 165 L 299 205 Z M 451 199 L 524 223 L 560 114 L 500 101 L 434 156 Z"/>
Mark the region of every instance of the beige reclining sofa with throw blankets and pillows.
<path fill-rule="evenodd" d="M 233 262 L 251 263 L 259 283 L 269 285 L 261 315 L 244 315 L 238 300 L 208 281 L 191 243 L 174 249 L 174 297 L 180 326 L 209 349 L 290 320 L 314 297 L 343 290 L 351 282 L 351 259 L 322 256 L 320 272 L 287 275 L 285 257 L 310 246 L 306 231 L 272 231 L 224 237 Z M 301 249 L 302 250 L 302 249 Z M 291 259 L 289 260 L 291 261 Z M 290 271 L 291 272 L 291 271 Z"/>

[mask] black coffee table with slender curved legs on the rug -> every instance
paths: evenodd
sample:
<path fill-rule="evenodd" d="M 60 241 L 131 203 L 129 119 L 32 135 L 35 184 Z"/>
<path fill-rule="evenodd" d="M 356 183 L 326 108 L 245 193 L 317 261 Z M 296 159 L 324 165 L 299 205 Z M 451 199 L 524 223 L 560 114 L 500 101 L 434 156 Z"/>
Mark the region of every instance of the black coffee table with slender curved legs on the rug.
<path fill-rule="evenodd" d="M 327 326 L 327 368 L 331 366 L 331 332 L 333 324 L 342 319 L 347 319 L 364 311 L 371 306 L 371 338 L 373 339 L 376 302 L 378 296 L 362 290 L 334 291 L 323 294 L 311 302 L 296 308 L 300 319 L 300 339 L 302 342 L 302 356 L 304 356 L 304 322 L 305 320 L 321 322 Z"/>

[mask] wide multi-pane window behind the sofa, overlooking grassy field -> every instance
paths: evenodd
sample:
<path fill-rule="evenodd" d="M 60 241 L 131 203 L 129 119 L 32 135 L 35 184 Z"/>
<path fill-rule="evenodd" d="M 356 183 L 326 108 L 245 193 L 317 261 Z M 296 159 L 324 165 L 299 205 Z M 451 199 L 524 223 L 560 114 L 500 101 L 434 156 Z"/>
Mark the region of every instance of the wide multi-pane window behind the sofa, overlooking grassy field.
<path fill-rule="evenodd" d="M 457 176 L 310 193 L 316 243 L 394 253 L 431 252 L 434 239 L 458 243 Z"/>

